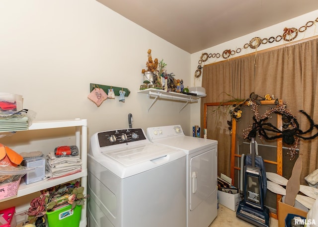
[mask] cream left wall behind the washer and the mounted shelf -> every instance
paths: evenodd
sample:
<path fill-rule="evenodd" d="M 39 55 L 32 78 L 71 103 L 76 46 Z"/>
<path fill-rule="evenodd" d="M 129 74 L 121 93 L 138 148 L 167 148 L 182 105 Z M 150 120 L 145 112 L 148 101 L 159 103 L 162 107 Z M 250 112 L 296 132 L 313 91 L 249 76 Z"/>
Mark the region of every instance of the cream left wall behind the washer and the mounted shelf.
<path fill-rule="evenodd" d="M 190 128 L 190 105 L 157 101 L 137 91 L 152 49 L 168 73 L 190 85 L 190 54 L 95 0 L 1 0 L 0 92 L 23 95 L 36 120 L 88 120 L 95 132 L 181 124 Z M 125 103 L 87 99 L 89 83 L 126 87 Z"/>

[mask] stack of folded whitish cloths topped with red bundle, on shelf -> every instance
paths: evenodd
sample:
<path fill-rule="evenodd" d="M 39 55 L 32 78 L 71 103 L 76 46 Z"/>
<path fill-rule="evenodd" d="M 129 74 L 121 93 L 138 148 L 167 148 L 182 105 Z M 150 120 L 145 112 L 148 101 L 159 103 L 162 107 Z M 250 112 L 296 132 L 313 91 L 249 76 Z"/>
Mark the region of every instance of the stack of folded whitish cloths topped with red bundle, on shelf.
<path fill-rule="evenodd" d="M 81 159 L 77 146 L 57 147 L 49 153 L 46 165 L 46 177 L 57 178 L 81 171 Z"/>

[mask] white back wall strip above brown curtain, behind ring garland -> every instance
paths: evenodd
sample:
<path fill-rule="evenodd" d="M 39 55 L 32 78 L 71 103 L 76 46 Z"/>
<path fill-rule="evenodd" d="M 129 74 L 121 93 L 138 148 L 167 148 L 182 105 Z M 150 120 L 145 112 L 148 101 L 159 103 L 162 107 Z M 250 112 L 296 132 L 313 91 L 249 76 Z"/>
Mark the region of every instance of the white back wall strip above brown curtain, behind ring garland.
<path fill-rule="evenodd" d="M 191 55 L 191 83 L 195 84 L 195 86 L 201 86 L 202 85 L 202 74 L 199 78 L 194 77 L 194 72 L 197 70 L 198 67 L 198 61 L 200 60 L 200 57 L 203 53 L 208 53 L 208 54 L 216 54 L 219 53 L 222 55 L 224 50 L 236 50 L 237 48 L 241 48 L 242 51 L 239 54 L 233 55 L 231 58 L 238 57 L 241 55 L 249 54 L 249 53 L 255 53 L 255 51 L 260 51 L 264 49 L 268 49 L 271 47 L 279 46 L 286 44 L 283 40 L 280 42 L 273 42 L 273 43 L 267 43 L 267 44 L 261 44 L 256 50 L 251 49 L 251 48 L 246 48 L 244 49 L 244 44 L 248 44 L 251 39 L 254 37 L 260 37 L 261 39 L 263 38 L 270 38 L 271 36 L 276 37 L 277 35 L 282 35 L 284 32 L 284 28 L 297 28 L 299 29 L 300 27 L 306 25 L 308 21 L 315 21 L 318 15 L 318 10 L 304 14 L 299 17 L 295 17 L 293 19 L 284 21 L 279 24 L 275 24 L 273 26 L 255 31 L 253 33 L 247 34 L 245 36 L 238 37 L 237 39 L 233 39 L 231 41 L 222 43 L 220 45 L 199 51 L 197 53 L 194 53 Z M 317 23 L 315 23 L 313 26 L 307 28 L 305 32 L 299 32 L 298 36 L 296 37 L 295 40 L 293 41 L 298 41 L 302 40 L 308 37 L 316 36 L 318 35 L 318 29 L 317 29 Z M 293 42 L 292 41 L 292 42 Z M 214 62 L 219 62 L 223 61 L 222 57 L 219 59 L 213 59 L 209 58 L 208 61 L 206 61 L 204 64 L 211 64 Z M 203 66 L 203 65 L 202 65 Z M 204 70 L 204 68 L 203 68 Z M 225 100 L 220 100 L 225 101 Z M 199 103 L 195 103 L 191 105 L 191 118 L 190 118 L 191 125 L 200 125 L 200 101 Z"/>

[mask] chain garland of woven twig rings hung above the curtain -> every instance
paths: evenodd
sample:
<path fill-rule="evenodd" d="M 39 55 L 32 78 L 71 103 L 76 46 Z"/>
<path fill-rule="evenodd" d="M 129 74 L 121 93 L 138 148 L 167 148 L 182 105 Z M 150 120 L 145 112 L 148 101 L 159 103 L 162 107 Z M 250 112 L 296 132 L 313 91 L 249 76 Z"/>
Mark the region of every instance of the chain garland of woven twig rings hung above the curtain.
<path fill-rule="evenodd" d="M 275 42 L 280 42 L 281 40 L 284 40 L 286 42 L 290 42 L 298 36 L 298 32 L 305 32 L 307 28 L 313 26 L 316 22 L 318 22 L 318 18 L 316 18 L 315 21 L 308 21 L 306 25 L 300 27 L 299 29 L 297 28 L 284 28 L 283 34 L 282 35 L 277 35 L 276 37 L 271 36 L 269 38 L 260 38 L 260 37 L 254 37 L 252 38 L 248 43 L 244 44 L 243 48 L 247 49 L 248 47 L 251 49 L 256 49 L 259 47 L 261 44 L 267 44 L 267 43 L 273 43 Z M 208 54 L 208 53 L 203 53 L 200 57 L 199 60 L 199 65 L 197 67 L 197 70 L 194 73 L 195 77 L 200 77 L 202 74 L 202 69 L 203 66 L 202 64 L 206 62 L 209 58 L 223 58 L 223 59 L 228 59 L 231 56 L 234 56 L 235 54 L 239 54 L 241 52 L 241 48 L 237 48 L 236 50 L 224 50 L 222 54 L 220 53 L 214 53 L 214 54 Z"/>

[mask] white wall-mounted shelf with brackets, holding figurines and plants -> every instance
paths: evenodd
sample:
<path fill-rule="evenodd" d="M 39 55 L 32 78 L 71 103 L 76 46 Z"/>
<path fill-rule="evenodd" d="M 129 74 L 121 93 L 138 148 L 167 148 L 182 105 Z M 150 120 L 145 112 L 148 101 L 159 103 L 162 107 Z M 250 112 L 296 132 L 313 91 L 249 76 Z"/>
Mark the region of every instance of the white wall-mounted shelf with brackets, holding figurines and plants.
<path fill-rule="evenodd" d="M 150 110 L 150 108 L 155 104 L 155 102 L 159 98 L 185 102 L 185 104 L 183 105 L 183 107 L 180 109 L 179 112 L 181 112 L 181 110 L 183 110 L 183 108 L 188 103 L 198 102 L 198 99 L 200 98 L 200 97 L 195 96 L 195 95 L 187 95 L 187 94 L 182 94 L 182 93 L 177 93 L 177 92 L 160 90 L 160 89 L 156 89 L 156 88 L 148 88 L 145 90 L 140 90 L 140 91 L 138 91 L 138 93 L 148 94 L 148 97 L 155 97 L 154 101 L 149 106 L 148 111 Z"/>

